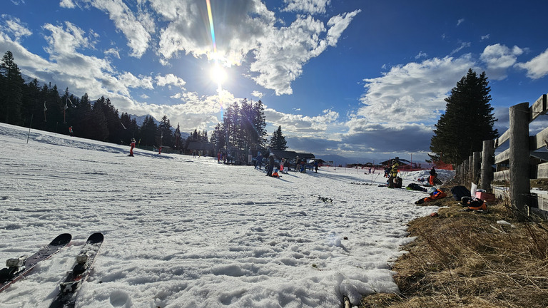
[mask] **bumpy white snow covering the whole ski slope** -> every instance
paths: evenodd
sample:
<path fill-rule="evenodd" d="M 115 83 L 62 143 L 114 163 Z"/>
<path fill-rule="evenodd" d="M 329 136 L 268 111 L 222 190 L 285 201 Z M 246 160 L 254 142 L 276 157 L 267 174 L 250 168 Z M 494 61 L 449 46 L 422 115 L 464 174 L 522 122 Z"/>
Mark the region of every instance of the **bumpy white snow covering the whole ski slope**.
<path fill-rule="evenodd" d="M 426 193 L 378 187 L 379 170 L 270 178 L 37 130 L 27 143 L 28 133 L 0 124 L 0 260 L 64 232 L 73 240 L 1 292 L 3 308 L 49 307 L 93 232 L 105 240 L 76 307 L 357 305 L 397 292 L 390 262 L 412 240 L 406 223 L 436 210 L 413 204 Z"/>

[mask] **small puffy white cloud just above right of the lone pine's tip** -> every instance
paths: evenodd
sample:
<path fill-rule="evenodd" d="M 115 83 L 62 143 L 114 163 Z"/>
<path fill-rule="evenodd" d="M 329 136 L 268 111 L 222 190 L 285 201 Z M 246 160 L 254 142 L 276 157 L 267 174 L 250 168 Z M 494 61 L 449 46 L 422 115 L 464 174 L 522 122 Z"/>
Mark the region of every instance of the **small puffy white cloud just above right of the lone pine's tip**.
<path fill-rule="evenodd" d="M 487 64 L 486 73 L 489 78 L 502 80 L 507 77 L 507 68 L 514 66 L 517 56 L 523 53 L 522 48 L 508 48 L 499 43 L 484 48 L 480 60 Z"/>

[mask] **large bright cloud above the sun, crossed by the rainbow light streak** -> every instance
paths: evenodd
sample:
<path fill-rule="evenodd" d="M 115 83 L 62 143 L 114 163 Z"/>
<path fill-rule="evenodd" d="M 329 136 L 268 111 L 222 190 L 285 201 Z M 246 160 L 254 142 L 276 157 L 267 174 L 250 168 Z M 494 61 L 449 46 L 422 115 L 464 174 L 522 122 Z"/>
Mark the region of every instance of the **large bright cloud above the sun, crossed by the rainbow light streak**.
<path fill-rule="evenodd" d="M 288 7 L 325 8 L 328 1 L 288 1 Z M 181 53 L 196 58 L 215 58 L 225 66 L 250 61 L 251 78 L 276 95 L 291 94 L 291 83 L 303 73 L 310 58 L 335 46 L 360 10 L 332 16 L 326 23 L 310 15 L 298 15 L 290 26 L 277 27 L 273 11 L 260 1 L 233 0 L 212 3 L 216 53 L 205 3 L 152 0 L 151 7 L 168 25 L 161 30 L 158 53 L 161 63 Z M 316 9 L 313 9 L 316 8 Z M 221 22 L 222 21 L 222 22 Z M 253 57 L 250 57 L 253 55 Z"/>

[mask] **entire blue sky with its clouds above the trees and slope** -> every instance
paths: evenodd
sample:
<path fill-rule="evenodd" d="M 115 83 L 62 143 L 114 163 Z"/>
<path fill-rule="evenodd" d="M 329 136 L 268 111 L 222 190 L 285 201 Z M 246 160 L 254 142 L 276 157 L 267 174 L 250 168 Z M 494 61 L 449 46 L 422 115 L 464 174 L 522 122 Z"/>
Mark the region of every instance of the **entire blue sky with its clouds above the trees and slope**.
<path fill-rule="evenodd" d="M 260 99 L 268 134 L 316 155 L 424 160 L 469 68 L 487 73 L 500 132 L 509 106 L 548 91 L 541 0 L 4 2 L 0 52 L 28 76 L 187 132 Z"/>

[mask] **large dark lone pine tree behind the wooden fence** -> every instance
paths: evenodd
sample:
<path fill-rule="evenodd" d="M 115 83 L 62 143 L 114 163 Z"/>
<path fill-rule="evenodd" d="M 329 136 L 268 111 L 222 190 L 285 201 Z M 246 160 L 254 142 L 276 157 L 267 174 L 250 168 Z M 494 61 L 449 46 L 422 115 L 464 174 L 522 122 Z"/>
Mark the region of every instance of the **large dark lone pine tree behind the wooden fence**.
<path fill-rule="evenodd" d="M 430 140 L 434 160 L 461 163 L 473 152 L 482 150 L 483 140 L 497 137 L 490 91 L 485 72 L 477 76 L 472 69 L 452 88 L 451 95 L 445 98 L 445 113 Z"/>

